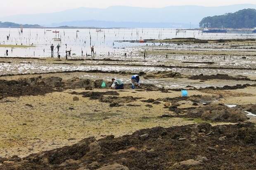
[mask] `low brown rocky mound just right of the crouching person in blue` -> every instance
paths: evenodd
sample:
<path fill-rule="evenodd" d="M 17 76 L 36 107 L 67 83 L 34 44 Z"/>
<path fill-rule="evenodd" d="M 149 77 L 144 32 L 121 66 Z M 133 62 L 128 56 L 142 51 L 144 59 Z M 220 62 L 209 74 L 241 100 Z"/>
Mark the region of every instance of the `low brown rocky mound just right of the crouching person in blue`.
<path fill-rule="evenodd" d="M 183 78 L 184 76 L 173 71 L 159 71 L 153 74 L 143 76 L 144 79 L 161 79 L 161 78 Z"/>

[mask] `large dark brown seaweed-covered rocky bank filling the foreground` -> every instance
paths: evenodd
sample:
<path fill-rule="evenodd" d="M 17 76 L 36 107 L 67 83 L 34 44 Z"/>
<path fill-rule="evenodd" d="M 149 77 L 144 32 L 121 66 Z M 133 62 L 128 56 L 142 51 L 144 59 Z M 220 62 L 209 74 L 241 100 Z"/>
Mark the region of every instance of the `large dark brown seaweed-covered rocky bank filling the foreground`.
<path fill-rule="evenodd" d="M 90 137 L 25 158 L 0 158 L 0 170 L 253 170 L 255 150 L 253 123 L 199 123 Z"/>

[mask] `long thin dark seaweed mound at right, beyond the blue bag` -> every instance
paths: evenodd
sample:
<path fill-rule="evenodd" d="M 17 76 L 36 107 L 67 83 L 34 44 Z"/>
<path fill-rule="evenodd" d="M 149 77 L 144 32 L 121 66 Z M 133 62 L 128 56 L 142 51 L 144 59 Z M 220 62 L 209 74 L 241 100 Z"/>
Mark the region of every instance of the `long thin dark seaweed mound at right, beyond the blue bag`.
<path fill-rule="evenodd" d="M 189 79 L 193 80 L 211 80 L 211 79 L 222 79 L 222 80 L 236 80 L 236 81 L 254 81 L 251 80 L 247 77 L 244 76 L 229 76 L 229 75 L 222 75 L 222 74 L 217 74 L 217 75 L 194 75 L 191 76 Z"/>

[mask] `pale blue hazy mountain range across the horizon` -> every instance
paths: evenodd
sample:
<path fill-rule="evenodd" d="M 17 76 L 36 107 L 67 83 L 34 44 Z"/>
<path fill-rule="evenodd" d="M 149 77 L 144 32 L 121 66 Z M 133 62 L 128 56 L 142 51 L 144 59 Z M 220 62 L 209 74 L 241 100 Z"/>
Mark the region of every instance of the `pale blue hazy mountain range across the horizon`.
<path fill-rule="evenodd" d="M 106 9 L 80 7 L 48 14 L 24 14 L 1 17 L 0 21 L 39 24 L 41 26 L 100 26 L 142 27 L 142 28 L 198 28 L 205 16 L 215 16 L 256 5 L 228 5 L 220 7 L 169 6 L 164 8 L 144 8 L 113 6 Z"/>

